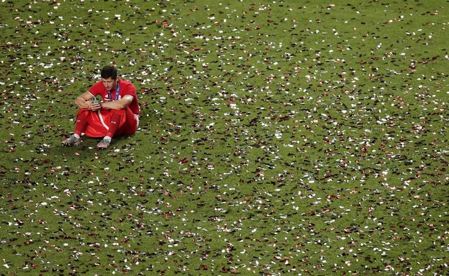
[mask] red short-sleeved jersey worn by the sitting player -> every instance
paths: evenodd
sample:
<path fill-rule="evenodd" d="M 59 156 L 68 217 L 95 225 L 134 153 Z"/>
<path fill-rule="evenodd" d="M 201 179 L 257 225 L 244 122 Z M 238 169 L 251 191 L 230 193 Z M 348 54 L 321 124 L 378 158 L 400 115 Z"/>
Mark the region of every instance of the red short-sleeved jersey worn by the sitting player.
<path fill-rule="evenodd" d="M 118 87 L 119 87 L 118 99 L 121 99 L 121 98 L 123 98 L 125 96 L 133 97 L 133 101 L 131 102 L 131 104 L 129 104 L 128 108 L 132 111 L 133 114 L 139 114 L 140 113 L 140 108 L 139 108 L 139 103 L 137 102 L 136 88 L 129 81 L 125 81 L 125 80 L 119 79 L 118 82 L 119 82 L 119 85 L 118 85 Z M 106 90 L 106 88 L 104 87 L 103 82 L 101 82 L 101 81 L 99 81 L 96 84 L 94 84 L 89 89 L 89 93 L 92 94 L 93 96 L 100 95 L 101 98 L 103 98 L 103 101 L 109 102 L 108 91 Z M 116 99 L 116 95 L 115 95 L 116 93 L 117 93 L 117 91 L 111 91 L 111 98 L 113 100 Z"/>

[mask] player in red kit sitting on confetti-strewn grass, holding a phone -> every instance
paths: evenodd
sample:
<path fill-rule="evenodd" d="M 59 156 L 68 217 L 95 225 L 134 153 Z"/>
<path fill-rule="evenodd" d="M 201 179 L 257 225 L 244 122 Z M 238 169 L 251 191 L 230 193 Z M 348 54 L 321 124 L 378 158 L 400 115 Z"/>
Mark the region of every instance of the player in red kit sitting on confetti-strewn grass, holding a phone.
<path fill-rule="evenodd" d="M 101 81 L 75 100 L 79 107 L 75 132 L 62 141 L 71 146 L 81 142 L 81 134 L 87 137 L 103 137 L 98 148 L 107 148 L 113 137 L 134 134 L 139 126 L 139 104 L 136 88 L 128 81 L 117 77 L 114 66 L 101 70 Z M 92 101 L 101 96 L 103 101 Z"/>

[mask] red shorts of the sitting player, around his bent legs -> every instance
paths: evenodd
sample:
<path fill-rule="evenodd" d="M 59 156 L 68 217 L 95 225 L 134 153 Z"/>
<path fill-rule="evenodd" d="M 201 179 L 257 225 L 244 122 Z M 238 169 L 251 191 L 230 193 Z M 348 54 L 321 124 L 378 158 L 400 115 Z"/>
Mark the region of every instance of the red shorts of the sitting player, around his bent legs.
<path fill-rule="evenodd" d="M 84 130 L 84 135 L 87 137 L 96 138 L 106 136 L 109 130 L 108 126 L 111 124 L 112 114 L 114 113 L 122 116 L 114 137 L 134 134 L 139 127 L 139 117 L 132 113 L 128 107 L 121 110 L 100 109 L 97 111 L 82 108 L 78 111 L 78 114 L 81 112 L 87 112 L 87 126 Z"/>

